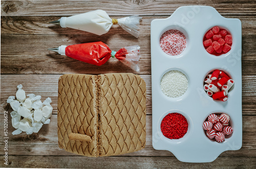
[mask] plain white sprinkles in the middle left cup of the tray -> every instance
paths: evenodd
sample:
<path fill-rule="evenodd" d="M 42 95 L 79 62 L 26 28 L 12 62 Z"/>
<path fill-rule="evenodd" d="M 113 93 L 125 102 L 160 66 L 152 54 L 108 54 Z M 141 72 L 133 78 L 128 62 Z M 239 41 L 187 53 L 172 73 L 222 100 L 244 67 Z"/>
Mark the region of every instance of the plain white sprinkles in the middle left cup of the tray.
<path fill-rule="evenodd" d="M 178 70 L 170 70 L 160 82 L 163 93 L 170 98 L 178 98 L 184 94 L 188 87 L 187 77 Z"/>

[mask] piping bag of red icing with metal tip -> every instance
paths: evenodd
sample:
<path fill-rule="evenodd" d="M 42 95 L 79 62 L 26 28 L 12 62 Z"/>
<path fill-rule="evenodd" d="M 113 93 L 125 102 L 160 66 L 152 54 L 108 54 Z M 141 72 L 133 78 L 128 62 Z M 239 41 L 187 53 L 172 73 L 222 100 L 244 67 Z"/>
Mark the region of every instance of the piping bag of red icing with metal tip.
<path fill-rule="evenodd" d="M 115 57 L 135 71 L 139 71 L 140 69 L 138 65 L 140 59 L 139 45 L 123 47 L 119 51 L 115 52 L 111 51 L 108 45 L 99 41 L 69 46 L 61 45 L 48 50 L 97 66 L 104 64 L 111 57 Z"/>

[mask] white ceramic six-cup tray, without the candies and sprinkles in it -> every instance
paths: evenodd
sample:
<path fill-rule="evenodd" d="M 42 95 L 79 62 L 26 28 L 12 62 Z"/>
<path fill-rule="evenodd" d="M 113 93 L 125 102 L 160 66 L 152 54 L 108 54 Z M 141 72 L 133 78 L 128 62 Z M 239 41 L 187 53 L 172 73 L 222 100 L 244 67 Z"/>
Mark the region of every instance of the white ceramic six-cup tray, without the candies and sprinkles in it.
<path fill-rule="evenodd" d="M 231 50 L 221 56 L 208 54 L 203 46 L 205 33 L 214 26 L 225 28 L 232 35 Z M 164 53 L 161 35 L 170 29 L 184 33 L 185 50 L 177 56 Z M 222 152 L 242 147 L 242 28 L 239 19 L 222 17 L 208 6 L 184 6 L 166 19 L 151 22 L 152 64 L 152 143 L 156 150 L 168 150 L 180 161 L 211 162 Z M 210 71 L 224 70 L 234 80 L 226 102 L 214 101 L 203 89 L 204 78 Z M 179 98 L 169 98 L 161 88 L 162 76 L 169 70 L 180 70 L 188 79 L 187 91 Z M 188 121 L 188 131 L 180 139 L 166 138 L 161 132 L 165 115 L 178 112 Z M 210 140 L 203 122 L 211 113 L 227 113 L 233 128 L 224 142 Z"/>

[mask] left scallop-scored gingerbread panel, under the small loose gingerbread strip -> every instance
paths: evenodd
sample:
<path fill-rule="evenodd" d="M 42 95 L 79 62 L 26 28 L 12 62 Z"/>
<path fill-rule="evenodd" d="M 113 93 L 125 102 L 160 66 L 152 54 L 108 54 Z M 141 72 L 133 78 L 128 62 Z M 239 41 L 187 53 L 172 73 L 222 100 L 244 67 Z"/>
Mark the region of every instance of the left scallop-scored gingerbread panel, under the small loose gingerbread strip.
<path fill-rule="evenodd" d="M 66 151 L 98 156 L 96 76 L 63 75 L 58 83 L 58 144 Z M 69 140 L 69 133 L 86 134 L 92 142 Z"/>

